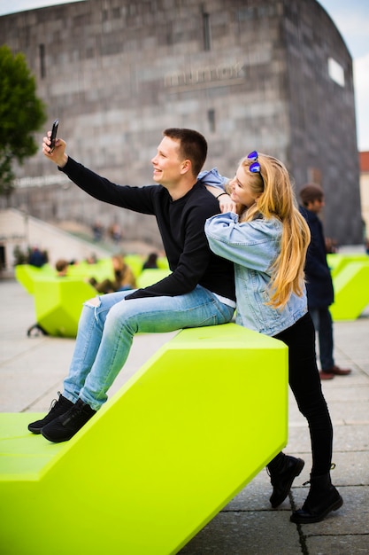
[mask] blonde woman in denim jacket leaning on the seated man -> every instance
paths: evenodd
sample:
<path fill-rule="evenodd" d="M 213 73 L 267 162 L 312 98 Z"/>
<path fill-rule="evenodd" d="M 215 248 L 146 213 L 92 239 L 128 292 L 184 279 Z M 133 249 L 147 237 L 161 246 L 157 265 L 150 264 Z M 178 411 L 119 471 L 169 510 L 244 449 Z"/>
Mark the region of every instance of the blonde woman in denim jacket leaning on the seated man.
<path fill-rule="evenodd" d="M 206 177 L 204 183 L 209 183 Z M 219 186 L 222 183 L 224 178 L 219 176 Z M 307 312 L 304 262 L 310 231 L 299 214 L 287 169 L 272 156 L 250 152 L 226 190 L 229 197 L 227 192 L 211 189 L 219 197 L 223 214 L 207 220 L 205 233 L 211 250 L 234 262 L 236 322 L 288 345 L 289 386 L 309 423 L 312 451 L 310 491 L 290 520 L 319 522 L 343 501 L 330 478 L 333 429 L 320 385 L 315 331 Z M 268 465 L 273 507 L 288 496 L 303 467 L 301 458 L 282 452 L 273 458 Z"/>

